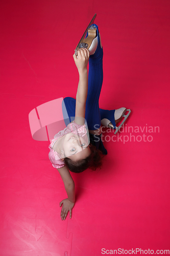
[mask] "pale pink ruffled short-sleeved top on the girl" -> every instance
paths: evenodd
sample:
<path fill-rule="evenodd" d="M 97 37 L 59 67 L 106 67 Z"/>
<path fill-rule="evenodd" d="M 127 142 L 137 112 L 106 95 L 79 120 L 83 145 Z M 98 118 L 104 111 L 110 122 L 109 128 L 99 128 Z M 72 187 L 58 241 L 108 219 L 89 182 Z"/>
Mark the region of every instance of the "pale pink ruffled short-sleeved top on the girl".
<path fill-rule="evenodd" d="M 52 143 L 48 146 L 50 148 L 48 157 L 49 157 L 50 161 L 52 162 L 53 167 L 58 169 L 65 165 L 65 164 L 63 164 L 63 161 L 61 161 L 61 159 L 60 159 L 61 155 L 53 150 L 53 146 L 54 146 L 55 142 L 60 137 L 66 135 L 67 133 L 73 133 L 73 134 L 81 136 L 88 143 L 87 130 L 85 127 L 86 127 L 85 124 L 80 125 L 80 124 L 75 123 L 75 121 L 73 121 L 72 123 L 69 123 L 64 130 L 60 131 L 59 133 L 57 133 L 54 136 Z"/>

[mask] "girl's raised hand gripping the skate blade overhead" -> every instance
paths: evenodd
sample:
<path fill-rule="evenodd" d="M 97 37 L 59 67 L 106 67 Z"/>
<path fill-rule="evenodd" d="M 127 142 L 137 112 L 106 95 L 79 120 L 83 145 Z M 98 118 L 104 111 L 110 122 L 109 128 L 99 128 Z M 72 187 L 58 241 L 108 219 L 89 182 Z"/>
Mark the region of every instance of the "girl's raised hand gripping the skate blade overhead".
<path fill-rule="evenodd" d="M 73 55 L 79 73 L 87 70 L 89 56 L 89 50 L 87 50 L 86 48 L 81 48 L 80 50 L 78 50 L 77 56 L 75 54 Z"/>

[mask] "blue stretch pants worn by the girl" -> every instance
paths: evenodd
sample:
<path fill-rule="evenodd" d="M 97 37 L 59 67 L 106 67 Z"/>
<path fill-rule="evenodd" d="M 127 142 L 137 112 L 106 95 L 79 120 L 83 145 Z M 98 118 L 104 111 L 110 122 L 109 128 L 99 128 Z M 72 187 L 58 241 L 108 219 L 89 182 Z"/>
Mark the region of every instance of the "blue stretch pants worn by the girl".
<path fill-rule="evenodd" d="M 99 97 L 103 83 L 103 48 L 100 44 L 100 36 L 98 26 L 93 24 L 98 33 L 98 47 L 93 55 L 89 58 L 88 72 L 88 93 L 86 100 L 85 119 L 87 121 L 88 130 L 96 130 L 101 126 L 101 120 L 107 118 L 116 126 L 114 120 L 115 110 L 103 110 L 99 108 Z M 87 35 L 86 35 L 87 36 Z M 64 119 L 65 125 L 74 120 L 76 112 L 76 99 L 66 97 L 63 99 L 69 119 Z M 64 104 L 62 103 L 63 116 L 65 115 Z"/>

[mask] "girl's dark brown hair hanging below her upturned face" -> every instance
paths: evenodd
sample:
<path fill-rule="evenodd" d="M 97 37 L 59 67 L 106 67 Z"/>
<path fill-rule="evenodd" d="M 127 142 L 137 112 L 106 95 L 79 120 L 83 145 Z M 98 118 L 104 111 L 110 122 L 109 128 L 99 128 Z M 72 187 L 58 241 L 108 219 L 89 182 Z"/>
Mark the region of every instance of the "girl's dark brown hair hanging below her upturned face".
<path fill-rule="evenodd" d="M 95 146 L 91 143 L 90 145 L 90 155 L 85 159 L 79 159 L 78 161 L 72 161 L 68 157 L 64 158 L 64 163 L 70 172 L 82 173 L 87 168 L 91 170 L 96 170 L 96 168 L 102 168 L 102 158 L 104 157 L 100 150 L 97 150 Z"/>

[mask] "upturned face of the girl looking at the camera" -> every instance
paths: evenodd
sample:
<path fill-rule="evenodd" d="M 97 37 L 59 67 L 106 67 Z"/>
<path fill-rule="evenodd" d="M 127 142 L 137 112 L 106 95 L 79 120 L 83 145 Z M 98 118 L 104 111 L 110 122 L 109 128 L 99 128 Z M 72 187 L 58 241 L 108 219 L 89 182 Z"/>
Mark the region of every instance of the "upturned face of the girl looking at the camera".
<path fill-rule="evenodd" d="M 65 135 L 63 151 L 64 157 L 69 157 L 71 160 L 83 159 L 90 155 L 88 143 L 82 137 L 73 133 Z"/>

